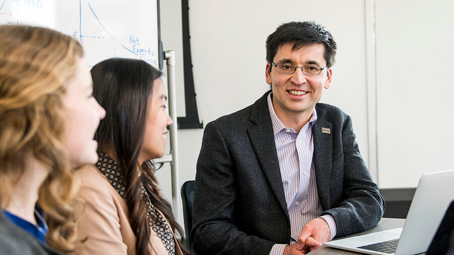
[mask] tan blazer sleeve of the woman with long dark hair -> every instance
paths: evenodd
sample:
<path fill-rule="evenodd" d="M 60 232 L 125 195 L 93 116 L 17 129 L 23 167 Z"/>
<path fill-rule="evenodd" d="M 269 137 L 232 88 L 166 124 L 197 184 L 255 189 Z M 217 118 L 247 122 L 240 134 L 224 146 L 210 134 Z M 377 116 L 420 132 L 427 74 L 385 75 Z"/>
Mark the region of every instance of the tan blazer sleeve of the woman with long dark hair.
<path fill-rule="evenodd" d="M 76 254 L 128 254 L 122 237 L 120 206 L 111 194 L 110 184 L 94 170 L 81 178 L 78 198 L 83 205 L 76 208 L 80 239 Z"/>

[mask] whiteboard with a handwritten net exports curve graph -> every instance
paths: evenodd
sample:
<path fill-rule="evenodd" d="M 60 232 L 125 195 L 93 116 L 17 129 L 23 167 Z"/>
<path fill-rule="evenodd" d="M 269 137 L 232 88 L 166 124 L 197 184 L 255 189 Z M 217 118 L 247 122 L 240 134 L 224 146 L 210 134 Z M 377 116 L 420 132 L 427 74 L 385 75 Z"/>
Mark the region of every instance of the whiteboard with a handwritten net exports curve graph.
<path fill-rule="evenodd" d="M 110 57 L 142 59 L 155 68 L 157 0 L 0 0 L 0 24 L 43 26 L 79 40 L 90 67 Z"/>

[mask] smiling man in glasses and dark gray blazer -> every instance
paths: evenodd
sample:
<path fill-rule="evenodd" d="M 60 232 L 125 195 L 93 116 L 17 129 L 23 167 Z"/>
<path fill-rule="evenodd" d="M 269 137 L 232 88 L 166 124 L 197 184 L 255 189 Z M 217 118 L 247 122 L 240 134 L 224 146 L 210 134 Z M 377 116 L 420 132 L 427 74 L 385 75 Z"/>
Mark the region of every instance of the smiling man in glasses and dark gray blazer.
<path fill-rule="evenodd" d="M 266 40 L 266 92 L 205 127 L 191 240 L 198 254 L 304 254 L 364 231 L 384 202 L 355 141 L 350 116 L 318 103 L 336 43 L 312 22 Z"/>

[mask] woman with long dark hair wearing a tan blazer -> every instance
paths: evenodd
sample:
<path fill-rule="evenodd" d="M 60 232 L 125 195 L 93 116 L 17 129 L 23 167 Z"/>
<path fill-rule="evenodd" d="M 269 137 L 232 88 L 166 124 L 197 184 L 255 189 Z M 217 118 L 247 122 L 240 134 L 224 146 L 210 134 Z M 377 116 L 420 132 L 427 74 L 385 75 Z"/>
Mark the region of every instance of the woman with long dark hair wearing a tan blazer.
<path fill-rule="evenodd" d="M 165 151 L 172 119 L 161 72 L 137 59 L 110 58 L 91 70 L 93 94 L 106 110 L 96 132 L 99 160 L 78 171 L 79 254 L 189 254 L 163 198 L 151 159 Z"/>

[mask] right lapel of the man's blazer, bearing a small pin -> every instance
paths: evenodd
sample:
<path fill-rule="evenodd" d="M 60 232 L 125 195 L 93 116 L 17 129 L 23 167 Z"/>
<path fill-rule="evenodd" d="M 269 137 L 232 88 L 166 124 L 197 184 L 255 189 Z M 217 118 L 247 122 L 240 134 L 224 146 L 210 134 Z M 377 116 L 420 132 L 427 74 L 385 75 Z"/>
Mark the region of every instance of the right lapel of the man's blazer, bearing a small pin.
<path fill-rule="evenodd" d="M 312 126 L 314 139 L 313 162 L 318 197 L 323 210 L 330 207 L 329 183 L 332 168 L 332 124 L 323 119 L 323 112 L 317 110 L 318 118 Z M 328 134 L 329 133 L 329 134 Z"/>

